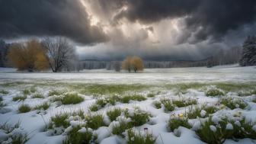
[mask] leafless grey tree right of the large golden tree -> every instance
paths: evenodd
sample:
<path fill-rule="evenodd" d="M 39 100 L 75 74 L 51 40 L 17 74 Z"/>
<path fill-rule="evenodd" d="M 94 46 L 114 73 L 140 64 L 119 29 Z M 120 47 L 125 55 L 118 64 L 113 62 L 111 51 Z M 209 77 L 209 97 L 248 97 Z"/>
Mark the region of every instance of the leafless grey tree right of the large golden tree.
<path fill-rule="evenodd" d="M 60 72 L 75 57 L 75 48 L 64 37 L 46 37 L 42 41 L 47 50 L 47 60 L 53 72 Z"/>

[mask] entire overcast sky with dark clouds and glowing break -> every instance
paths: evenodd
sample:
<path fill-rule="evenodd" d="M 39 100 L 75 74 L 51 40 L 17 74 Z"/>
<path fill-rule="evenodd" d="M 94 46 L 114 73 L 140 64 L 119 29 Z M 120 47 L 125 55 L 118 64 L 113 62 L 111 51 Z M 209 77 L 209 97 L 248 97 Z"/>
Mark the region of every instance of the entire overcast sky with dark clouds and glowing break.
<path fill-rule="evenodd" d="M 0 0 L 0 38 L 68 37 L 80 59 L 204 59 L 251 34 L 255 0 Z"/>

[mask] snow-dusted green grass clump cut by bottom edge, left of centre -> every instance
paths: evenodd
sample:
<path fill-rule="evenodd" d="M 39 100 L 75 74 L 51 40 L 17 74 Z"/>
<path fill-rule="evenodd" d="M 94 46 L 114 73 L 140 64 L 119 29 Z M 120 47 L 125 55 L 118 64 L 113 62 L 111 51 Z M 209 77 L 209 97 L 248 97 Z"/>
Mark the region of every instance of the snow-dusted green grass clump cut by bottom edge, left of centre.
<path fill-rule="evenodd" d="M 89 144 L 94 143 L 96 139 L 97 136 L 94 136 L 92 130 L 82 126 L 75 126 L 67 133 L 67 138 L 62 144 Z"/>

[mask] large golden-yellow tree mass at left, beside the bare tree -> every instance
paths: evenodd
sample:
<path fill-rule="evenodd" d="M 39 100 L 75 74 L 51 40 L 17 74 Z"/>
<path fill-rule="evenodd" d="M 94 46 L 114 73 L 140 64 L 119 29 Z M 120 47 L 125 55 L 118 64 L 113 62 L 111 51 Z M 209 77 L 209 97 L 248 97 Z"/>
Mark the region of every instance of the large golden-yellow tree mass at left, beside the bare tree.
<path fill-rule="evenodd" d="M 13 44 L 10 47 L 7 58 L 11 66 L 19 70 L 33 72 L 49 68 L 46 60 L 46 50 L 37 40 Z"/>

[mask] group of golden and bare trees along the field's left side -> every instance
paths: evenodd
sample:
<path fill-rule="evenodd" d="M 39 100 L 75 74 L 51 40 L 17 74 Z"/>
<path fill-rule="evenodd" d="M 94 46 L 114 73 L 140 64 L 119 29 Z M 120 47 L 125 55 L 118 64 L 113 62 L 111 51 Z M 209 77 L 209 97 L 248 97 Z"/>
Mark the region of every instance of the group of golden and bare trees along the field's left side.
<path fill-rule="evenodd" d="M 75 61 L 75 47 L 64 37 L 1 45 L 1 65 L 21 71 L 70 71 L 75 69 Z"/>

